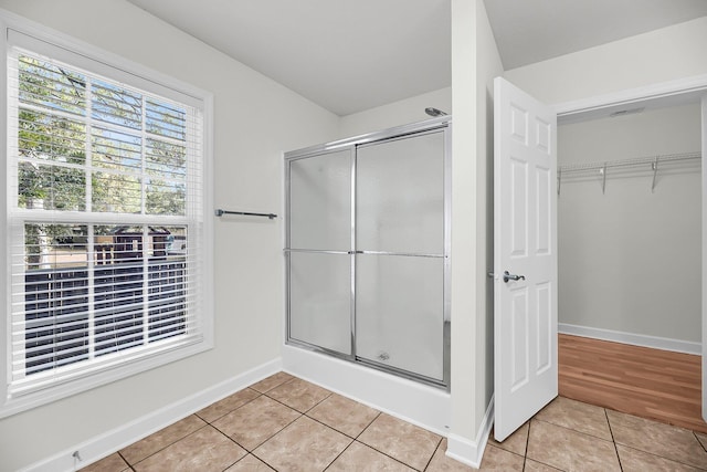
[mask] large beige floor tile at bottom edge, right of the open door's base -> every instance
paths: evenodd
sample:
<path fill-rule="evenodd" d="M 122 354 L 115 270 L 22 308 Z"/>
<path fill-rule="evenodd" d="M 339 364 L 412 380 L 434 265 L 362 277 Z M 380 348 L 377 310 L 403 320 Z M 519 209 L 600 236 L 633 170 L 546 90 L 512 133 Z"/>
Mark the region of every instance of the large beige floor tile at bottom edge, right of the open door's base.
<path fill-rule="evenodd" d="M 613 442 L 535 419 L 527 457 L 568 472 L 621 471 Z"/>

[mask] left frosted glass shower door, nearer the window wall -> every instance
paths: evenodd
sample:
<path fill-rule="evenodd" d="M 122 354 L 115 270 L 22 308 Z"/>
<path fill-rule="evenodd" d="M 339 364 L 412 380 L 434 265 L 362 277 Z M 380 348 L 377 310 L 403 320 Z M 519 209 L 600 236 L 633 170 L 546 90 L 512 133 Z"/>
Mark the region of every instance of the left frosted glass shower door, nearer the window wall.
<path fill-rule="evenodd" d="M 351 356 L 351 150 L 288 164 L 288 338 Z"/>

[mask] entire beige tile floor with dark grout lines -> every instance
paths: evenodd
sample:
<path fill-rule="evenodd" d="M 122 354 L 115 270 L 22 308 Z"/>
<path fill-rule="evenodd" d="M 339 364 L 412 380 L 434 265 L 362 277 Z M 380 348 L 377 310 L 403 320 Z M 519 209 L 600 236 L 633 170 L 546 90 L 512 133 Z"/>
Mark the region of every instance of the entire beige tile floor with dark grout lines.
<path fill-rule="evenodd" d="M 559 397 L 483 471 L 705 471 L 707 434 Z M 285 373 L 275 374 L 84 471 L 471 471 L 446 440 Z"/>

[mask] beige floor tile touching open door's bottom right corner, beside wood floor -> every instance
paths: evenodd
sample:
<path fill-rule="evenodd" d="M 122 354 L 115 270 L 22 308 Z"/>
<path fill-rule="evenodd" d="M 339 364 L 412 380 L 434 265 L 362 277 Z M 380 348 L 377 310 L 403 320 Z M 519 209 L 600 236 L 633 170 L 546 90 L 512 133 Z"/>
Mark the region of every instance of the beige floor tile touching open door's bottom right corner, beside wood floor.
<path fill-rule="evenodd" d="M 537 420 L 573 429 L 585 434 L 612 441 L 606 412 L 603 408 L 564 397 L 550 401 L 535 417 Z"/>

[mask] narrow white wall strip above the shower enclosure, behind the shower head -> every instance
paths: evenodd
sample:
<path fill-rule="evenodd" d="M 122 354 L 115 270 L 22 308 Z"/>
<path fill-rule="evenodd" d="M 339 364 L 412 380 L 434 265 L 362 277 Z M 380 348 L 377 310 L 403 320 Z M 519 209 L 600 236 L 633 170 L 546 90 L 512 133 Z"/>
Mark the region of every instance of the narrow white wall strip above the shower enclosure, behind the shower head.
<path fill-rule="evenodd" d="M 441 88 L 388 105 L 341 117 L 339 137 L 347 138 L 430 119 L 426 107 L 452 113 L 452 87 Z"/>

